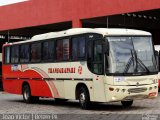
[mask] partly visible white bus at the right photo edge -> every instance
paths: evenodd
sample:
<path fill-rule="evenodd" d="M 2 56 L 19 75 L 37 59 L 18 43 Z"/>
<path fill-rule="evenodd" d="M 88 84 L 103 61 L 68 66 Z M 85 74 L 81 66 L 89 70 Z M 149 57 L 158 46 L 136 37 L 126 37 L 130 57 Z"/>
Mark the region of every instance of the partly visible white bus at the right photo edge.
<path fill-rule="evenodd" d="M 160 91 L 160 45 L 154 45 L 154 48 L 157 52 L 158 58 L 157 58 L 157 63 L 158 63 L 158 89 Z"/>

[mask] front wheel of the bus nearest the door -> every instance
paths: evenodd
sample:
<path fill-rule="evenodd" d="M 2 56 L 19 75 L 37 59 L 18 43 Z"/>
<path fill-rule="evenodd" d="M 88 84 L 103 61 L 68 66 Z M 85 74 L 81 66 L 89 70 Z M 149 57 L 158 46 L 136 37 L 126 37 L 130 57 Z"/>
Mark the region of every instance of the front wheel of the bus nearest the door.
<path fill-rule="evenodd" d="M 80 88 L 79 103 L 82 109 L 89 109 L 90 107 L 89 93 L 85 87 Z"/>

